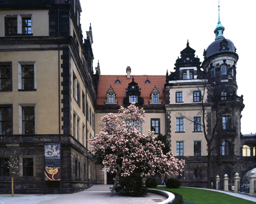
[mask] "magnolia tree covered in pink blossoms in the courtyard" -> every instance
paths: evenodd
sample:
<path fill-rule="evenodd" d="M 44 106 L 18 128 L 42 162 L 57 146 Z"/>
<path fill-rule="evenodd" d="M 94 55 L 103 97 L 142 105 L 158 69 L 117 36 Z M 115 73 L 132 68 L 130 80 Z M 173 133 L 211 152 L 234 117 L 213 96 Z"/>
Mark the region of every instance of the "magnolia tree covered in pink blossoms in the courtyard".
<path fill-rule="evenodd" d="M 132 103 L 127 109 L 121 107 L 119 115 L 108 114 L 101 118 L 102 130 L 89 140 L 91 152 L 97 161 L 110 170 L 116 171 L 116 178 L 110 196 L 113 196 L 119 177 L 130 176 L 137 168 L 140 176 L 178 175 L 184 169 L 184 160 L 164 154 L 164 144 L 155 141 L 154 132 L 140 133 L 145 122 L 145 112 Z"/>

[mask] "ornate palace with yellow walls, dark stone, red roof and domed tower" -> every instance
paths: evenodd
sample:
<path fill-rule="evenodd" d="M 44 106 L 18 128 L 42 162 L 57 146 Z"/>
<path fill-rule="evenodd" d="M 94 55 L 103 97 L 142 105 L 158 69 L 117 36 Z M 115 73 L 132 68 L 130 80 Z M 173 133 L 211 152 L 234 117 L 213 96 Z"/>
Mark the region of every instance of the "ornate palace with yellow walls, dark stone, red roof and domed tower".
<path fill-rule="evenodd" d="M 11 192 L 12 176 L 15 193 L 111 183 L 88 140 L 102 116 L 131 102 L 145 110 L 141 132 L 167 135 L 174 156 L 185 160 L 182 185 L 207 187 L 209 153 L 212 180 L 255 168 L 256 136 L 240 131 L 239 56 L 220 20 L 202 62 L 187 41 L 166 74 L 132 75 L 127 67 L 124 75 L 101 75 L 81 12 L 79 0 L 0 1 L 0 193 Z M 11 157 L 20 162 L 14 175 Z"/>

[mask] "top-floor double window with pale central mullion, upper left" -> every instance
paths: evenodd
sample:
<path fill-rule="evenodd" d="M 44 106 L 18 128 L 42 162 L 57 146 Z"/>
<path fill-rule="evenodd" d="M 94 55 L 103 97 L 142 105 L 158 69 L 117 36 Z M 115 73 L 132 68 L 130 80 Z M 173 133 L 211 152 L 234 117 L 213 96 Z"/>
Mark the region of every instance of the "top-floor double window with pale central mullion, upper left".
<path fill-rule="evenodd" d="M 5 16 L 6 36 L 32 36 L 31 14 L 10 14 Z"/>

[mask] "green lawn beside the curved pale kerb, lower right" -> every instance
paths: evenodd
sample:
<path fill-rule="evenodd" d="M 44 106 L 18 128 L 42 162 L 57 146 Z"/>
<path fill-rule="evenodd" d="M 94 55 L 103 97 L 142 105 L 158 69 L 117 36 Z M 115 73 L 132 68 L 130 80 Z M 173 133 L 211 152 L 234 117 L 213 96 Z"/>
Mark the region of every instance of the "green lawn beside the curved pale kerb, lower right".
<path fill-rule="evenodd" d="M 202 203 L 202 204 L 253 204 L 249 200 L 242 198 L 232 197 L 225 193 L 212 192 L 210 190 L 196 189 L 196 188 L 166 188 L 157 187 L 159 190 L 167 190 L 182 195 L 183 200 L 189 202 Z M 255 203 L 254 203 L 255 204 Z"/>

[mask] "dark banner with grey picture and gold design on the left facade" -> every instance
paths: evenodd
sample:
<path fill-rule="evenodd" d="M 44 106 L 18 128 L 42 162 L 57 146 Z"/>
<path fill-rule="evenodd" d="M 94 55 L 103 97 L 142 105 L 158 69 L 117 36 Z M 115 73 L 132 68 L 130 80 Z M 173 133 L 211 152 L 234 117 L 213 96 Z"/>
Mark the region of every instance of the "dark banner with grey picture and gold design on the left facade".
<path fill-rule="evenodd" d="M 44 178 L 47 181 L 61 180 L 60 142 L 44 142 Z"/>

